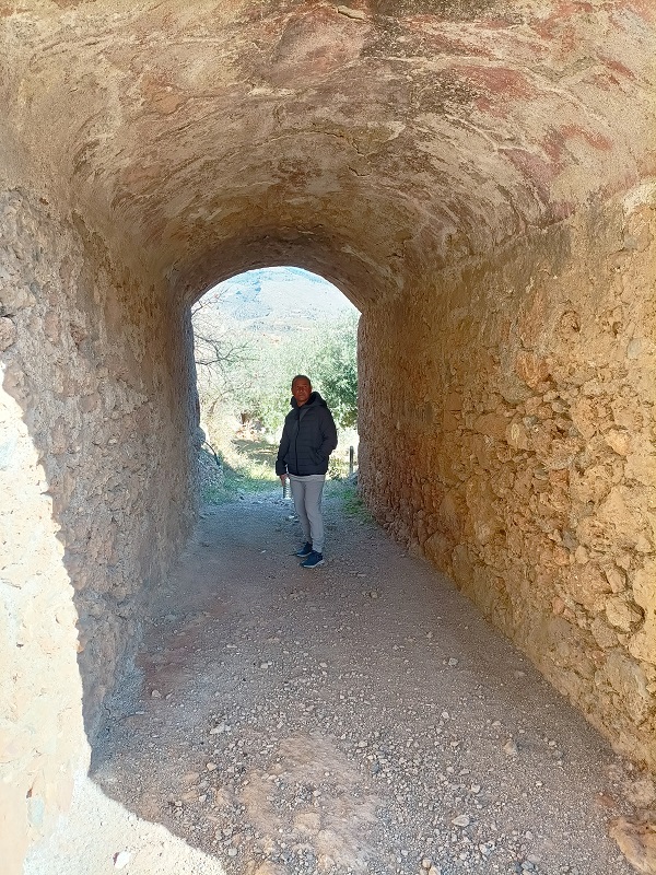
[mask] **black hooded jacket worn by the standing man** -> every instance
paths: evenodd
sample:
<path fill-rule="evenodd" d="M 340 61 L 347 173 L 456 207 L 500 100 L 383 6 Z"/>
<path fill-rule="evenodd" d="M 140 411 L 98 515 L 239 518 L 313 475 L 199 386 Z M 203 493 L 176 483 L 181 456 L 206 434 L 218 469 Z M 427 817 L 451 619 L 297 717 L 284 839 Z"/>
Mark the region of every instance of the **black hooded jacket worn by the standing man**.
<path fill-rule="evenodd" d="M 337 429 L 328 405 L 318 392 L 313 392 L 302 407 L 292 398 L 292 410 L 286 415 L 276 474 L 326 474 L 328 456 L 337 446 Z"/>

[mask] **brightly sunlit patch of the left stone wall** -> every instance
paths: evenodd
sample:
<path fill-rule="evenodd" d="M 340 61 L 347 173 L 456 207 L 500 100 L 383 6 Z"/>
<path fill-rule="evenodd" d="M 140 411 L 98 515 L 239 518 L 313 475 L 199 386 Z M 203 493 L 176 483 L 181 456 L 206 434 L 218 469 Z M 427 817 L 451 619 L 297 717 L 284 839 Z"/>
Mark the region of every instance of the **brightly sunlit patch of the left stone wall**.
<path fill-rule="evenodd" d="M 14 338 L 0 318 L 0 350 Z M 0 366 L 0 376 L 2 375 Z M 22 871 L 28 843 L 70 802 L 87 763 L 73 587 L 39 454 L 0 387 L 0 859 Z"/>

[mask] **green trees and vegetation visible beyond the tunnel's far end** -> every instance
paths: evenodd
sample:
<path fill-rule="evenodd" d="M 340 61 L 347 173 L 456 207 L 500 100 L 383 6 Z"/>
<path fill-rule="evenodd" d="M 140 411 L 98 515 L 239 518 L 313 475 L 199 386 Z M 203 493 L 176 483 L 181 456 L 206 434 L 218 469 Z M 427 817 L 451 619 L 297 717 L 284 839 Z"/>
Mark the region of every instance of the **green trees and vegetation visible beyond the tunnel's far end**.
<path fill-rule="evenodd" d="M 201 425 L 221 463 L 201 454 L 203 499 L 222 503 L 279 487 L 278 440 L 298 373 L 311 377 L 338 427 L 340 444 L 328 476 L 345 477 L 349 446 L 358 444 L 359 314 L 305 320 L 293 330 L 279 319 L 265 329 L 231 316 L 224 294 L 206 295 L 192 308 Z"/>

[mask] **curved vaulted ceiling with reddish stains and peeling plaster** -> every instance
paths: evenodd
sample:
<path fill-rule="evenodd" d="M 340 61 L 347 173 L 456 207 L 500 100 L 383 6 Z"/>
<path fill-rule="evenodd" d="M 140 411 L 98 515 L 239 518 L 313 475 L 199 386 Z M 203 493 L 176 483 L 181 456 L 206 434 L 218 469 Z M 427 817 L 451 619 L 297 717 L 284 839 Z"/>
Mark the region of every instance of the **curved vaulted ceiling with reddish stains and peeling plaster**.
<path fill-rule="evenodd" d="M 0 9 L 8 184 L 195 295 L 295 262 L 359 303 L 656 172 L 649 0 Z"/>

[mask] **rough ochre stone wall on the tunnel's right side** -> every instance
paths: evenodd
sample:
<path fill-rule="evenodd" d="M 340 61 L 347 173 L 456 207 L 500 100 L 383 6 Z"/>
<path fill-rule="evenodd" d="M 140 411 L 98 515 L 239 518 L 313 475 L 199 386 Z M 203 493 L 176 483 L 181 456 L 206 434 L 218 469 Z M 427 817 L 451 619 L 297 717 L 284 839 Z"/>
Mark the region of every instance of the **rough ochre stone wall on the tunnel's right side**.
<path fill-rule="evenodd" d="M 361 328 L 367 503 L 652 769 L 654 206 L 426 276 Z"/>

